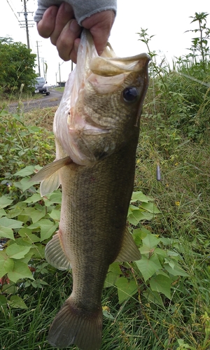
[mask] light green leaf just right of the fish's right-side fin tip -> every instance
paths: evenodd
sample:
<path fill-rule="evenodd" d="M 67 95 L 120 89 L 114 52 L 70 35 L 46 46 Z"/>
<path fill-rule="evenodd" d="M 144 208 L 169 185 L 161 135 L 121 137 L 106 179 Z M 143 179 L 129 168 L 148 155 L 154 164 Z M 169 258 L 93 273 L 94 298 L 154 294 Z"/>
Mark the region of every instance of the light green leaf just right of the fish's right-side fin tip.
<path fill-rule="evenodd" d="M 141 255 L 141 260 L 136 261 L 137 267 L 144 277 L 144 281 L 150 279 L 151 276 L 153 276 L 153 274 L 158 271 L 158 269 L 162 268 L 157 258 L 154 258 L 155 257 L 153 257 L 153 255 L 149 259 L 146 257 L 146 255 Z"/>

